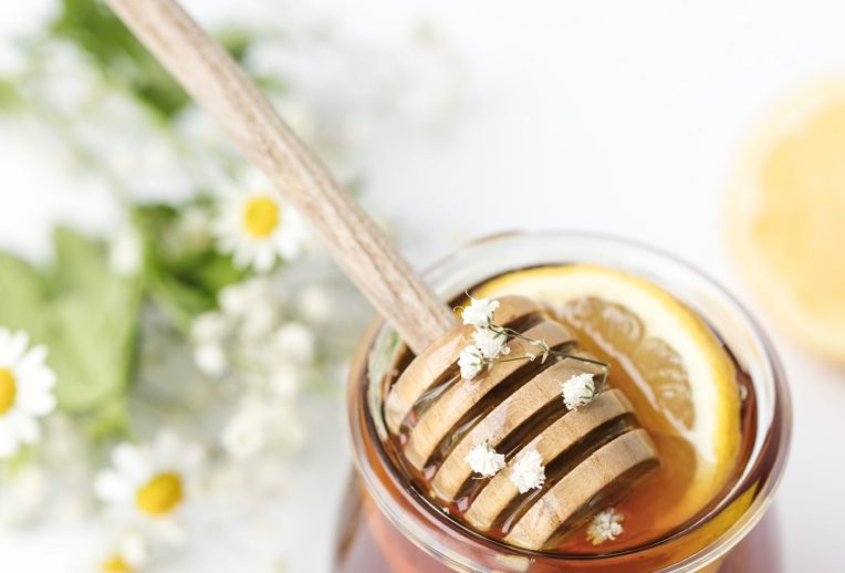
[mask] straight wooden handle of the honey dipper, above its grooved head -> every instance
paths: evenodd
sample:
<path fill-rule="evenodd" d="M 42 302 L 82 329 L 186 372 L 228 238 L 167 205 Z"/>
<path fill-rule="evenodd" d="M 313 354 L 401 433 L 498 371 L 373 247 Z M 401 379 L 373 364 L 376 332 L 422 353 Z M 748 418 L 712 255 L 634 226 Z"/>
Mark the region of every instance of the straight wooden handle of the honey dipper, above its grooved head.
<path fill-rule="evenodd" d="M 107 0 L 181 85 L 305 217 L 337 264 L 410 348 L 455 323 L 352 196 L 284 124 L 247 74 L 175 0 Z"/>

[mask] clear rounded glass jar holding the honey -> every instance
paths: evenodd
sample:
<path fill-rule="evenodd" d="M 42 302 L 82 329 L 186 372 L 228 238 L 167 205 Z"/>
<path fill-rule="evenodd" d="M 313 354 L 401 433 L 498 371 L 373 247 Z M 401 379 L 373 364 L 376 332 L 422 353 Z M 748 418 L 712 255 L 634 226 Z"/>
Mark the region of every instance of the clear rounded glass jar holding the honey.
<path fill-rule="evenodd" d="M 353 358 L 348 414 L 356 472 L 342 511 L 335 569 L 393 571 L 776 571 L 773 519 L 760 523 L 783 473 L 790 397 L 774 351 L 743 308 L 701 272 L 663 252 L 603 236 L 504 235 L 465 247 L 427 275 L 444 300 L 504 272 L 549 264 L 594 263 L 637 274 L 697 312 L 750 376 L 757 407 L 747 463 L 726 494 L 682 529 L 638 546 L 596 555 L 525 551 L 448 520 L 397 472 L 383 448 L 383 382 L 398 352 L 383 323 Z M 752 530 L 753 533 L 752 533 Z M 743 541 L 744 540 L 744 541 Z"/>

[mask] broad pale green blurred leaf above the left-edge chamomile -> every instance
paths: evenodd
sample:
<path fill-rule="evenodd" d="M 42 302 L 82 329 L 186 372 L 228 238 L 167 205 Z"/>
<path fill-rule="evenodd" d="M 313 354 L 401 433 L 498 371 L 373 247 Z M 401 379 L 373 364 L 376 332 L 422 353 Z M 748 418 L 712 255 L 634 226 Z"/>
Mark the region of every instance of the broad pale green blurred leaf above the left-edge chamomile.
<path fill-rule="evenodd" d="M 123 429 L 140 283 L 114 274 L 104 246 L 55 231 L 55 264 L 39 271 L 0 254 L 0 324 L 50 348 L 59 407 L 97 433 Z"/>

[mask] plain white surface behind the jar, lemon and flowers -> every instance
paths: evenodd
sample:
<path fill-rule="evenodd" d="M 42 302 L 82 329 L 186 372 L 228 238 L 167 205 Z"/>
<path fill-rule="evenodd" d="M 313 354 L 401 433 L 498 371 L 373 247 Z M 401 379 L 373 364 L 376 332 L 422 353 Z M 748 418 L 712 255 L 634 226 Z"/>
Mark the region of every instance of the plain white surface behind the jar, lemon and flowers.
<path fill-rule="evenodd" d="M 802 82 L 845 73 L 845 11 L 834 1 L 322 4 L 375 39 L 429 18 L 466 58 L 468 93 L 450 135 L 421 144 L 385 133 L 367 150 L 369 202 L 429 239 L 413 253 L 419 263 L 461 239 L 503 229 L 597 229 L 669 249 L 748 300 L 720 229 L 732 163 L 774 102 Z M 0 21 L 19 8 L 3 6 Z M 44 199 L 58 183 L 38 169 L 35 147 L 0 134 L 0 243 L 38 250 Z M 48 210 L 74 218 L 91 210 L 103 220 L 75 198 Z M 785 571 L 841 571 L 845 458 L 831 445 L 845 435 L 845 375 L 775 342 L 795 410 L 776 499 Z M 337 455 L 340 436 L 328 441 L 310 467 L 340 492 L 347 462 Z M 313 499 L 312 487 L 303 479 L 298 491 Z M 291 503 L 291 523 L 310 524 L 283 534 L 285 546 L 299 548 L 294 571 L 313 571 L 303 555 L 327 563 L 336 499 L 328 496 L 313 512 Z M 0 540 L 3 570 L 10 562 L 63 563 L 74 539 L 65 532 Z M 46 551 L 32 553 L 48 546 L 52 561 Z M 223 553 L 220 546 L 215 555 Z M 231 570 L 229 559 L 215 567 L 206 558 L 201 570 Z"/>

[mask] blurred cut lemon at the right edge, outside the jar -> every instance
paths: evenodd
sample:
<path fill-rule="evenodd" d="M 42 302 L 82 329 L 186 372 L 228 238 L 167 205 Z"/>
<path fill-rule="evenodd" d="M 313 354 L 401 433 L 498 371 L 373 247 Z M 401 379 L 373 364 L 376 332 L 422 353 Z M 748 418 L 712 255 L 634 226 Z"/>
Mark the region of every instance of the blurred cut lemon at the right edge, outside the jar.
<path fill-rule="evenodd" d="M 845 363 L 845 81 L 773 114 L 727 196 L 740 271 L 776 322 Z"/>

